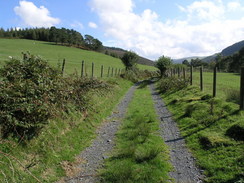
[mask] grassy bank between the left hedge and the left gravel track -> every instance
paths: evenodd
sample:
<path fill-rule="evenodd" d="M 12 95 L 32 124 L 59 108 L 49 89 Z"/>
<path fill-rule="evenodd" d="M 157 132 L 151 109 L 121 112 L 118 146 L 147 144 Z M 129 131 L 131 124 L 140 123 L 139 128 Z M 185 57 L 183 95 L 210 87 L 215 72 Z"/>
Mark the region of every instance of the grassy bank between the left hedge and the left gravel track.
<path fill-rule="evenodd" d="M 131 86 L 119 78 L 110 78 L 107 82 L 112 83 L 114 89 L 106 95 L 94 93 L 91 109 L 84 113 L 70 109 L 62 118 L 57 116 L 27 144 L 21 145 L 10 138 L 0 139 L 0 182 L 54 182 L 75 173 L 71 163 L 79 161 L 75 155 L 90 144 L 96 128 Z"/>

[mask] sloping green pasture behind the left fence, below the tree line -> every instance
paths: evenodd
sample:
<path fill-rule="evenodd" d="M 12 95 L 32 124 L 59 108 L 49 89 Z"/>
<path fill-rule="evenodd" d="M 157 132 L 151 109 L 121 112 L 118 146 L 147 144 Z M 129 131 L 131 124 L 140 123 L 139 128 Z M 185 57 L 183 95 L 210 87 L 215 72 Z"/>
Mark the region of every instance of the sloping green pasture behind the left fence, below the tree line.
<path fill-rule="evenodd" d="M 78 48 L 59 46 L 55 43 L 25 40 L 25 39 L 0 39 L 0 65 L 4 64 L 9 56 L 20 58 L 22 52 L 29 51 L 31 54 L 40 55 L 47 59 L 51 65 L 62 64 L 66 59 L 65 73 L 70 74 L 77 71 L 80 74 L 81 61 L 85 61 L 85 71 L 91 75 L 92 62 L 94 62 L 94 75 L 100 76 L 101 65 L 104 65 L 104 74 L 107 74 L 108 67 L 124 68 L 120 59 L 107 56 L 94 51 L 87 51 Z M 155 70 L 154 67 L 138 65 L 140 69 Z M 111 73 L 111 70 L 110 70 Z"/>

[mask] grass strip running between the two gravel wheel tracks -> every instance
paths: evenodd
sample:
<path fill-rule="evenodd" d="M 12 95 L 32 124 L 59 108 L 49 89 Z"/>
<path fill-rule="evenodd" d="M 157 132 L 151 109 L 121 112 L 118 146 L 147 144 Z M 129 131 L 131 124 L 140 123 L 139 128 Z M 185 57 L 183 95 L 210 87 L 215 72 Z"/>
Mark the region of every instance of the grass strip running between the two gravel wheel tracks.
<path fill-rule="evenodd" d="M 114 154 L 102 171 L 102 182 L 167 182 L 170 168 L 158 123 L 149 89 L 137 89 L 117 133 Z"/>

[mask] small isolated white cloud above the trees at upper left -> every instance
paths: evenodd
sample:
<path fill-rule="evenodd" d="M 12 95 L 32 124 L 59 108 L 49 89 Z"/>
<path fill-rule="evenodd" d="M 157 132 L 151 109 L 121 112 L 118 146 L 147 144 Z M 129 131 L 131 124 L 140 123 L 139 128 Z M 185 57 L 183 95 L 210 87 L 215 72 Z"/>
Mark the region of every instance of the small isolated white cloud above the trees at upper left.
<path fill-rule="evenodd" d="M 50 16 L 50 12 L 44 6 L 39 8 L 30 1 L 20 1 L 14 8 L 16 15 L 20 16 L 24 25 L 32 27 L 51 27 L 59 24 L 58 18 Z"/>

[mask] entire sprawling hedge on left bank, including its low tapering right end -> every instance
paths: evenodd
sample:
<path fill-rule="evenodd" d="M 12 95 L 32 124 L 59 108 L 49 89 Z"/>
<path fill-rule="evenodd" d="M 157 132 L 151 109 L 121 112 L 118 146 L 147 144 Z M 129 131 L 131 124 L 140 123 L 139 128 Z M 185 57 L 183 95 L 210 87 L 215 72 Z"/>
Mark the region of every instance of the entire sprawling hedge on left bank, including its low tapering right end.
<path fill-rule="evenodd" d="M 69 104 L 84 111 L 91 91 L 110 87 L 96 79 L 61 78 L 59 70 L 30 54 L 6 62 L 0 76 L 0 125 L 5 137 L 32 138 L 56 111 L 69 111 Z"/>

